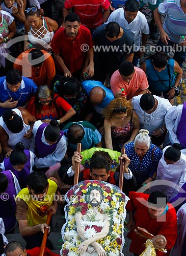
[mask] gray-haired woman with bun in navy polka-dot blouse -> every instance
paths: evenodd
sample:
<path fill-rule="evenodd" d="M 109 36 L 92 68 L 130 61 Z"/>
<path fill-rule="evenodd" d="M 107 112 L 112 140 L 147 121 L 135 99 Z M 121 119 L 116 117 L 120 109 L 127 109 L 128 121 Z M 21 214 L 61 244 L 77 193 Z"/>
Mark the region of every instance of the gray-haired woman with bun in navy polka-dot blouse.
<path fill-rule="evenodd" d="M 125 154 L 130 159 L 130 168 L 137 181 L 137 188 L 155 180 L 158 162 L 162 157 L 159 147 L 150 143 L 149 132 L 141 129 L 134 142 L 125 145 Z"/>

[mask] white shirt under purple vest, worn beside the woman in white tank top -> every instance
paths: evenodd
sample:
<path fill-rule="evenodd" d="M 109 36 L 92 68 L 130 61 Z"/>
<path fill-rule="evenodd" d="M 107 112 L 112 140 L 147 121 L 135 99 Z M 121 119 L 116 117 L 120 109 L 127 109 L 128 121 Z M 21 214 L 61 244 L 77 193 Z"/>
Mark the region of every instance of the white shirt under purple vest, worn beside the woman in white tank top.
<path fill-rule="evenodd" d="M 32 130 L 32 133 L 34 134 L 34 138 L 36 137 L 37 130 L 41 124 L 43 124 L 43 122 L 41 122 L 40 120 L 35 122 L 33 130 Z M 46 127 L 45 127 L 45 129 L 46 129 Z M 44 144 L 49 145 L 46 142 L 45 137 L 44 137 L 45 129 L 43 130 L 43 133 L 41 136 L 41 141 Z M 34 150 L 35 150 L 35 140 L 34 139 L 31 143 L 30 150 L 32 152 L 34 152 Z M 56 150 L 52 154 L 47 155 L 44 158 L 36 157 L 34 163 L 37 168 L 44 168 L 44 167 L 52 166 L 56 163 L 59 163 L 64 158 L 66 151 L 67 151 L 67 138 L 63 135 L 57 144 Z"/>

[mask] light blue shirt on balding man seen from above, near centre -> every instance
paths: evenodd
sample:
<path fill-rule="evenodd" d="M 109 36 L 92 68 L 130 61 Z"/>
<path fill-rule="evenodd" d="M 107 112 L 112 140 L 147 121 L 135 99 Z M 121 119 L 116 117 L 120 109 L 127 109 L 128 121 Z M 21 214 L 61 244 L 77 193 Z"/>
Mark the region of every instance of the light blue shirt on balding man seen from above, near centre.
<path fill-rule="evenodd" d="M 87 95 L 90 95 L 90 91 L 94 87 L 101 87 L 105 91 L 105 98 L 103 99 L 101 104 L 94 106 L 95 111 L 100 114 L 102 113 L 102 110 L 111 102 L 111 100 L 114 99 L 113 92 L 107 87 L 104 87 L 100 81 L 92 81 L 92 80 L 83 81 L 82 86 L 85 89 Z"/>

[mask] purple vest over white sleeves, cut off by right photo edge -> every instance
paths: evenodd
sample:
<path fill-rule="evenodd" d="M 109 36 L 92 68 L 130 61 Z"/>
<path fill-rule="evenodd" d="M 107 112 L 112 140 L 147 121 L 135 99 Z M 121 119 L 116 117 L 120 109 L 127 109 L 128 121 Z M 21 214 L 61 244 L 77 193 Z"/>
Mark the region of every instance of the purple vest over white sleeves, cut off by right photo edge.
<path fill-rule="evenodd" d="M 186 148 L 186 102 L 183 103 L 181 119 L 178 123 L 176 135 L 183 148 Z"/>

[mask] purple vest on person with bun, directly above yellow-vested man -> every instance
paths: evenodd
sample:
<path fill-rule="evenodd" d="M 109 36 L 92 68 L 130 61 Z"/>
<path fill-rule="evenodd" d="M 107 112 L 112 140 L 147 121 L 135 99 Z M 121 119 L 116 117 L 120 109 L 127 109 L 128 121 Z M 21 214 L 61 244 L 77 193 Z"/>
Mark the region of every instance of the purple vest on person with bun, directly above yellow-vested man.
<path fill-rule="evenodd" d="M 10 162 L 10 158 L 4 159 L 4 165 L 6 170 L 11 170 L 11 172 L 16 176 L 20 188 L 25 188 L 27 186 L 27 179 L 30 174 L 31 170 L 31 155 L 29 150 L 24 150 L 24 153 L 26 155 L 27 161 L 24 164 L 24 168 L 18 172 L 18 170 L 15 170 Z"/>

